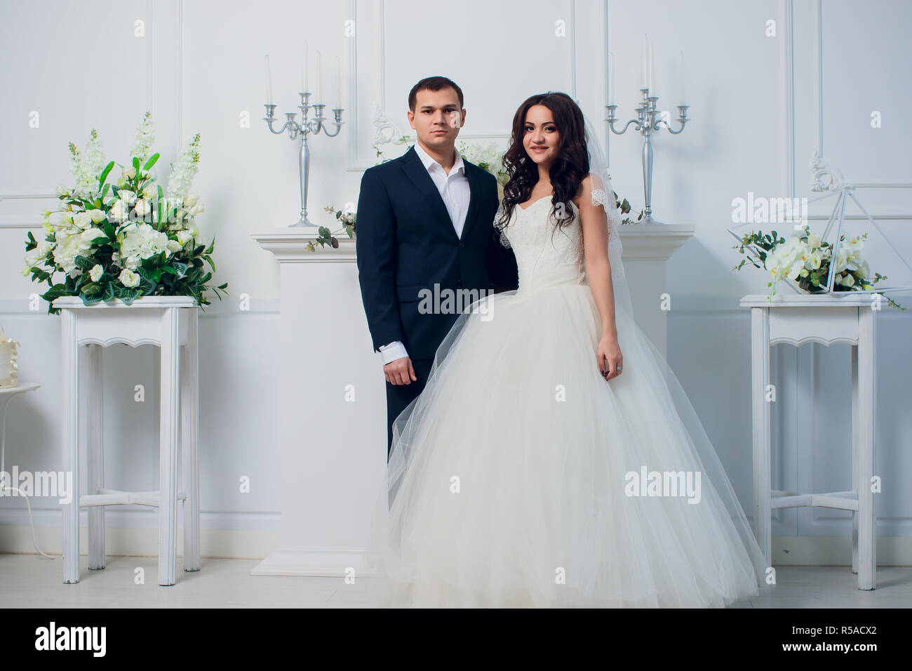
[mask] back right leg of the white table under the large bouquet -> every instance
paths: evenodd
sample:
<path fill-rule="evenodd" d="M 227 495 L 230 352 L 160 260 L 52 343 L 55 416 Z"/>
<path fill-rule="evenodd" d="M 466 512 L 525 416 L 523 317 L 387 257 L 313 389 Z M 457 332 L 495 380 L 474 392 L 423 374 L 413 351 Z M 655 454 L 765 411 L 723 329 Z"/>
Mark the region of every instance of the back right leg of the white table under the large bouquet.
<path fill-rule="evenodd" d="M 187 316 L 187 344 L 181 357 L 181 461 L 183 502 L 183 570 L 200 570 L 200 467 L 199 442 L 199 348 L 198 310 L 184 309 Z"/>

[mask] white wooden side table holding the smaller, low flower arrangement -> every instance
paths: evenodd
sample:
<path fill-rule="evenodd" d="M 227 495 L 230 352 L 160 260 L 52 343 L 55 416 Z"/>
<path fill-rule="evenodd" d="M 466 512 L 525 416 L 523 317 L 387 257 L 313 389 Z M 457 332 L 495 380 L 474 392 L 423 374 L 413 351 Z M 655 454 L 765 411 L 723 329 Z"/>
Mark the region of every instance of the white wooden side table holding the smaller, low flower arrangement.
<path fill-rule="evenodd" d="M 883 300 L 883 299 L 882 299 Z M 852 511 L 852 571 L 858 589 L 875 588 L 874 494 L 875 298 L 839 295 L 745 296 L 751 309 L 751 397 L 753 407 L 753 522 L 757 542 L 772 565 L 772 510 L 823 507 Z M 886 306 L 886 300 L 882 303 Z M 770 467 L 770 346 L 805 342 L 852 346 L 852 490 L 800 494 L 772 490 Z"/>

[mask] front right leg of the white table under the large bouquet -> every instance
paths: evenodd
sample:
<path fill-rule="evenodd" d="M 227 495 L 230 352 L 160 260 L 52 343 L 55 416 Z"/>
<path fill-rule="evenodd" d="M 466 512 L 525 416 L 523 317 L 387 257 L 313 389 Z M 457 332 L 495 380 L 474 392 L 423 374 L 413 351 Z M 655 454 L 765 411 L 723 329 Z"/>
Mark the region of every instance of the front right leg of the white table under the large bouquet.
<path fill-rule="evenodd" d="M 175 582 L 177 563 L 177 450 L 180 421 L 178 308 L 161 317 L 161 420 L 159 424 L 159 584 Z"/>

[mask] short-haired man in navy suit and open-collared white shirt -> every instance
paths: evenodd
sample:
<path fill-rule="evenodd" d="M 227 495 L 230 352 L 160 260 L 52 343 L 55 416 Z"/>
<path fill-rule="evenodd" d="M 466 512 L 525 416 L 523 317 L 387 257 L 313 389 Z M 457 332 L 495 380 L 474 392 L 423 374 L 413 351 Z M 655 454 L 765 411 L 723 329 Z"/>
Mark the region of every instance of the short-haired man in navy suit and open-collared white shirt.
<path fill-rule="evenodd" d="M 423 391 L 459 316 L 420 311 L 420 290 L 436 296 L 435 285 L 453 295 L 518 286 L 513 251 L 493 227 L 497 181 L 455 148 L 465 122 L 462 90 L 445 77 L 421 79 L 409 92 L 408 117 L 418 142 L 368 168 L 358 198 L 358 281 L 387 379 L 388 460 L 393 422 Z"/>

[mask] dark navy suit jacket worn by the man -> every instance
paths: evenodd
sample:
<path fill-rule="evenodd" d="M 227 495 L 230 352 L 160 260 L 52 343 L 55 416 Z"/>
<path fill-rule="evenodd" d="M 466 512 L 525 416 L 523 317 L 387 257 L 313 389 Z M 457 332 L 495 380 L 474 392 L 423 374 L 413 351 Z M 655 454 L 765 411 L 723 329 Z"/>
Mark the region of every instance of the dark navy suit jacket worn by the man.
<path fill-rule="evenodd" d="M 435 284 L 454 291 L 518 287 L 513 251 L 500 244 L 493 226 L 497 182 L 463 163 L 472 195 L 461 236 L 414 148 L 361 178 L 358 282 L 375 351 L 402 341 L 411 359 L 433 360 L 459 313 L 421 313 L 422 288 L 433 296 Z"/>

